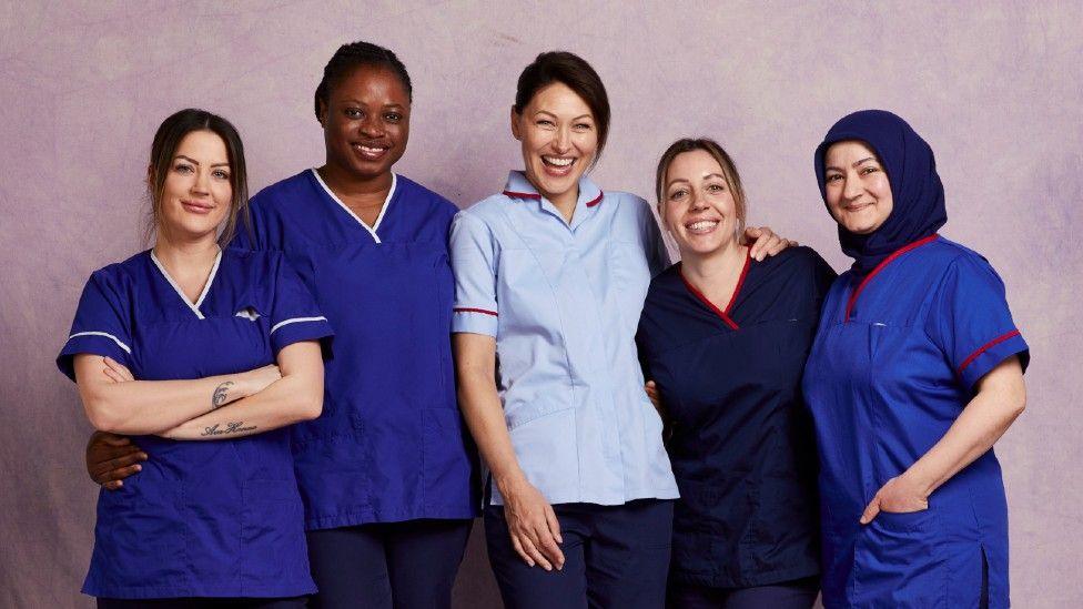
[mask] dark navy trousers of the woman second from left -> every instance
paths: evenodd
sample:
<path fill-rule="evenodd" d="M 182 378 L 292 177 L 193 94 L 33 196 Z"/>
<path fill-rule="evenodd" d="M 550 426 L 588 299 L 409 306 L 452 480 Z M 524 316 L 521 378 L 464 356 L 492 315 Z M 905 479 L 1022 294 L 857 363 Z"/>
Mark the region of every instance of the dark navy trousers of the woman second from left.
<path fill-rule="evenodd" d="M 407 520 L 307 532 L 316 609 L 447 609 L 473 520 Z"/>

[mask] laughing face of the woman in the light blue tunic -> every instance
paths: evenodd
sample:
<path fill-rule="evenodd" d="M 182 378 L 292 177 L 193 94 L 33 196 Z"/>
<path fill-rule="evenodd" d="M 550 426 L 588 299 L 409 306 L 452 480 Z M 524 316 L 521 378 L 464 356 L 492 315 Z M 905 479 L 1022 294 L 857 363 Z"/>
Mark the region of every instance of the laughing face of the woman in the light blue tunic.
<path fill-rule="evenodd" d="M 598 130 L 587 102 L 563 82 L 538 90 L 512 134 L 523 143 L 526 176 L 553 203 L 575 199 L 579 177 L 598 153 Z"/>

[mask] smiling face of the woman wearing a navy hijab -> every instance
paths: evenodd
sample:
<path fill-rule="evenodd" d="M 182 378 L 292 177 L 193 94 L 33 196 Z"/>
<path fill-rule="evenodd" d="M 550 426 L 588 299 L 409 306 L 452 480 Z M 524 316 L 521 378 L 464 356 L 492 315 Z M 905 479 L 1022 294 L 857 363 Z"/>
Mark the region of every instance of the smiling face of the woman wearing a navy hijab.
<path fill-rule="evenodd" d="M 891 183 L 875 152 L 864 142 L 843 140 L 823 154 L 828 210 L 847 231 L 867 235 L 891 215 Z"/>

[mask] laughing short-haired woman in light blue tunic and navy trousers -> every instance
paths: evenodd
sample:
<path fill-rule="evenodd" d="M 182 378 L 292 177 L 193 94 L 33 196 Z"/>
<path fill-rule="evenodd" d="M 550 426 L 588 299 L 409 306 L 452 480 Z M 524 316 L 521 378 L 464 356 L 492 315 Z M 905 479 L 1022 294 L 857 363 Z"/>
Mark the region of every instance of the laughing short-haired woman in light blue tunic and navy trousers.
<path fill-rule="evenodd" d="M 538 55 L 510 121 L 525 171 L 452 227 L 459 403 L 490 470 L 489 559 L 510 608 L 659 607 L 677 487 L 635 333 L 668 256 L 645 201 L 584 175 L 609 129 L 586 61 Z M 767 236 L 761 250 L 783 246 Z"/>

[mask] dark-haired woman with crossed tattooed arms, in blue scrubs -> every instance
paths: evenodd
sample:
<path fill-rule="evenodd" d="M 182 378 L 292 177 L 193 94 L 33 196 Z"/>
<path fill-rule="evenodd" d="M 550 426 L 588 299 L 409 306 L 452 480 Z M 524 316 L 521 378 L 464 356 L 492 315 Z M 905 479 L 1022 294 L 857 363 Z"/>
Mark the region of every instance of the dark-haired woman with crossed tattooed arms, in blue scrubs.
<path fill-rule="evenodd" d="M 281 255 L 220 246 L 246 205 L 229 122 L 166 119 L 148 187 L 154 247 L 94 272 L 57 359 L 91 423 L 151 456 L 101 493 L 83 591 L 103 608 L 303 607 L 315 588 L 282 427 L 320 415 L 331 328 Z"/>

